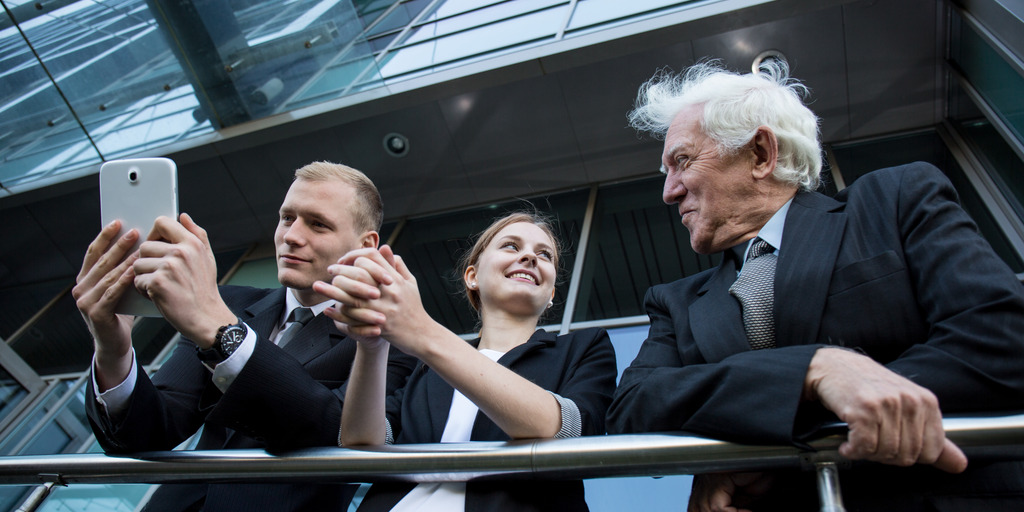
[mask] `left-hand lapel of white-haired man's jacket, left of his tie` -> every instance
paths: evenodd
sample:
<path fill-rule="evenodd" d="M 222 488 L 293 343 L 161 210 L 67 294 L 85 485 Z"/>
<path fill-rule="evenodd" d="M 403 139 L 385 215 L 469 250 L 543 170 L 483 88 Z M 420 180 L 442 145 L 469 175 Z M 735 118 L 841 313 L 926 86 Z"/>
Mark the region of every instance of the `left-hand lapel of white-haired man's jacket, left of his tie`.
<path fill-rule="evenodd" d="M 689 307 L 690 331 L 708 362 L 718 362 L 751 349 L 743 332 L 739 302 L 729 295 L 729 287 L 735 281 L 736 263 L 723 255 L 722 263 L 697 292 L 699 297 Z"/>

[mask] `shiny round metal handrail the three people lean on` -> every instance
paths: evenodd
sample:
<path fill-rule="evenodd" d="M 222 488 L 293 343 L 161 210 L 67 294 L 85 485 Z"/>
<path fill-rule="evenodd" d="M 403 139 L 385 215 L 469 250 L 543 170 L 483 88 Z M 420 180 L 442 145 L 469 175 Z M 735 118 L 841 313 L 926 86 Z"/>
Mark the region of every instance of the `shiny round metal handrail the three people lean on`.
<path fill-rule="evenodd" d="M 972 459 L 1024 458 L 1024 415 L 946 419 L 947 437 Z M 67 454 L 0 458 L 0 484 L 187 481 L 466 481 L 490 478 L 601 478 L 721 471 L 813 469 L 845 464 L 845 435 L 796 446 L 749 445 L 681 433 L 511 442 L 308 449 Z"/>

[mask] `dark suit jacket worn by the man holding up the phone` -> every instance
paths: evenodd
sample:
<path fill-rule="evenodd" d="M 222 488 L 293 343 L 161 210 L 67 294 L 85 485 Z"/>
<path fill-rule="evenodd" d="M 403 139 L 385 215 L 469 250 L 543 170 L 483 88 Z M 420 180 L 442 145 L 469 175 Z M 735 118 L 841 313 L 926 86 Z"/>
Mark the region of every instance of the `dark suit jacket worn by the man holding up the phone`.
<path fill-rule="evenodd" d="M 182 340 L 151 380 L 139 369 L 124 418 L 112 424 L 87 386 L 86 410 L 93 432 L 108 453 L 171 450 L 196 433 L 197 449 L 267 449 L 335 446 L 341 425 L 343 384 L 355 354 L 325 315 L 317 315 L 280 348 L 269 335 L 283 315 L 285 288 L 265 290 L 221 287 L 228 307 L 258 335 L 245 368 L 221 393 L 211 372 Z M 415 359 L 392 351 L 388 391 L 404 385 Z M 206 496 L 209 511 L 344 510 L 355 487 L 346 484 L 202 484 L 164 485 L 147 510 L 187 510 Z"/>

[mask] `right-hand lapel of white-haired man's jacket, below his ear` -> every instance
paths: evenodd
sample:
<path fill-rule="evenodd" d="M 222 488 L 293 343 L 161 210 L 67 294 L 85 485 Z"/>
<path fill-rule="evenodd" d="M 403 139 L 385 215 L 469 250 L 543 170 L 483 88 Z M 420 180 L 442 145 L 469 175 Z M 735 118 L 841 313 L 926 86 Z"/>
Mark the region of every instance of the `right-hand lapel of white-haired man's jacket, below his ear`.
<path fill-rule="evenodd" d="M 816 337 L 845 229 L 843 203 L 816 193 L 794 199 L 775 269 L 778 346 L 822 341 Z"/>

